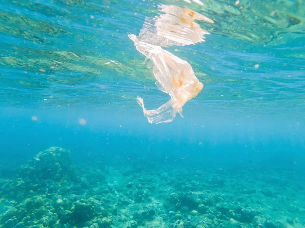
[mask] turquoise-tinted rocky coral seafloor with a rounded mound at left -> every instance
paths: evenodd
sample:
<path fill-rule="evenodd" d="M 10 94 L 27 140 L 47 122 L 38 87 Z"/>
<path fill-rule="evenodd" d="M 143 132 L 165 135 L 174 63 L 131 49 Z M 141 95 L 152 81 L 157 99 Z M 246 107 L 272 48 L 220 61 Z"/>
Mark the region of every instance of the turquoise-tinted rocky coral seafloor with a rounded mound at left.
<path fill-rule="evenodd" d="M 0 227 L 305 227 L 305 178 L 138 155 L 76 165 L 51 147 L 0 179 Z"/>

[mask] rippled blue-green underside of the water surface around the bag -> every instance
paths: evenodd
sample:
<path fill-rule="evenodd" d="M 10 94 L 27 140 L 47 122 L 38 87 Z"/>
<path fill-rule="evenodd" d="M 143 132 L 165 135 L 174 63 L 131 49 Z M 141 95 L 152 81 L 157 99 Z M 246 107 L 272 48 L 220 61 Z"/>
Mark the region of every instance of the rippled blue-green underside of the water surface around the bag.
<path fill-rule="evenodd" d="M 127 35 L 139 32 L 159 3 L 170 1 L 2 0 L 1 102 L 99 106 L 107 97 L 133 106 L 145 86 L 144 100 L 156 105 L 159 91 Z M 215 21 L 199 22 L 211 33 L 205 43 L 169 48 L 205 85 L 196 98 L 200 107 L 304 111 L 302 1 L 176 4 Z M 122 91 L 115 82 L 133 83 Z"/>

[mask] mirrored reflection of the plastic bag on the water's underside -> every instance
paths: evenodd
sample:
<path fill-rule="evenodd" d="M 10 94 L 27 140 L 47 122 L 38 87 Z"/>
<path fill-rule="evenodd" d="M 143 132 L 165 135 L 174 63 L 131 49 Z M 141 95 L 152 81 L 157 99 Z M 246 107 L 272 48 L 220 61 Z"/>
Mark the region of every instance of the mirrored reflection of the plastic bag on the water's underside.
<path fill-rule="evenodd" d="M 138 40 L 158 46 L 186 46 L 204 42 L 209 34 L 200 28 L 195 20 L 214 23 L 210 18 L 190 9 L 177 6 L 159 5 L 160 14 L 155 18 L 146 18 Z"/>

